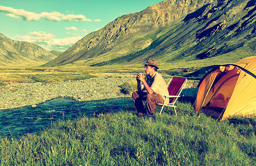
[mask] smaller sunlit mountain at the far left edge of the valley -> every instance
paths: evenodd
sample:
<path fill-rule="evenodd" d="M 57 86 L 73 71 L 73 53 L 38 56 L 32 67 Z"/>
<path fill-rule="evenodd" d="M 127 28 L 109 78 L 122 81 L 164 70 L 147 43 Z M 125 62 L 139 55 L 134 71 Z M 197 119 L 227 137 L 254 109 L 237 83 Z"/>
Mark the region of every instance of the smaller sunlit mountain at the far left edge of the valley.
<path fill-rule="evenodd" d="M 0 65 L 2 66 L 42 65 L 56 57 L 36 44 L 12 40 L 0 33 Z"/>

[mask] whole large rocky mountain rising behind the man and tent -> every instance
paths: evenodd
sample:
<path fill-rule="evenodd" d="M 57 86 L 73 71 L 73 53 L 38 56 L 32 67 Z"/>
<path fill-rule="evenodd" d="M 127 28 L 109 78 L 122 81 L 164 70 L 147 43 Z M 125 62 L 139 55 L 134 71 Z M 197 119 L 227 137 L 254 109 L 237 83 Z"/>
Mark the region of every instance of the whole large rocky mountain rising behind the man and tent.
<path fill-rule="evenodd" d="M 255 56 L 255 0 L 169 0 L 123 15 L 45 66 L 101 66 Z"/>

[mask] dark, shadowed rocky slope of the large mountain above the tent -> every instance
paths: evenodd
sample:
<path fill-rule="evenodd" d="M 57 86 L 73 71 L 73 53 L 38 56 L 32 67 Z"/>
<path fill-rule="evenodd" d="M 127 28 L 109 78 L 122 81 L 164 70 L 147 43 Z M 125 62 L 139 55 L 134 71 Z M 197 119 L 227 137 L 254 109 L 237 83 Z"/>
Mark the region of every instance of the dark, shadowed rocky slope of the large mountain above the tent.
<path fill-rule="evenodd" d="M 169 56 L 166 58 L 165 56 L 165 59 L 168 59 L 166 62 L 175 60 L 186 61 L 188 59 L 196 60 L 211 58 L 214 56 L 230 53 L 231 51 L 240 48 L 242 45 L 247 45 L 248 43 L 251 47 L 250 51 L 252 51 L 252 53 L 248 54 L 248 56 L 255 55 L 255 49 L 253 48 L 253 46 L 255 46 L 255 24 L 253 24 L 255 22 L 255 2 L 243 1 L 244 3 L 241 3 L 240 6 L 238 2 L 241 1 L 237 1 L 237 3 L 233 4 L 230 1 L 229 3 L 223 4 L 209 4 L 208 6 L 203 6 L 200 8 L 198 11 L 196 11 L 195 14 L 192 13 L 187 15 L 187 17 L 183 20 L 183 23 L 181 23 L 181 26 L 178 28 L 178 31 L 168 35 L 168 38 L 165 39 L 165 42 L 159 42 L 157 46 L 160 47 L 160 49 L 162 49 L 161 51 L 165 52 L 165 54 L 168 54 L 166 53 L 168 51 L 171 53 L 171 51 L 184 48 L 190 43 L 191 46 L 181 51 L 176 57 L 172 58 Z M 248 4 L 253 4 L 251 9 L 249 9 Z M 230 7 L 228 7 L 229 5 Z M 238 12 L 229 10 L 230 8 L 234 7 L 239 7 L 240 11 L 243 11 L 242 9 L 244 9 L 244 11 L 240 12 L 238 10 Z M 229 15 L 231 12 L 237 13 Z M 242 19 L 234 19 L 234 16 L 239 16 L 239 14 L 243 16 Z M 246 23 L 246 20 L 244 20 L 245 17 L 249 17 L 248 22 L 251 22 Z M 223 20 L 226 20 L 226 22 Z M 239 29 L 243 29 L 243 31 L 239 31 Z M 178 39 L 171 38 L 172 35 Z M 166 42 L 166 40 L 168 42 Z M 236 41 L 234 42 L 234 40 Z M 239 42 L 239 40 L 241 41 Z M 152 57 L 159 59 L 159 56 Z M 240 56 L 240 58 L 244 57 Z"/>

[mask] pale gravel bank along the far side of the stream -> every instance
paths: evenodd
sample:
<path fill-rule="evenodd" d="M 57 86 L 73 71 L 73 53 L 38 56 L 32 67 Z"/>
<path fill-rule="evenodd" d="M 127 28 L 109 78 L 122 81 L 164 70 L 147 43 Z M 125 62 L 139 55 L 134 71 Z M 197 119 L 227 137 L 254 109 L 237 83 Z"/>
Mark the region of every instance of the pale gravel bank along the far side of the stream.
<path fill-rule="evenodd" d="M 36 107 L 38 103 L 58 97 L 72 97 L 78 101 L 131 97 L 120 93 L 119 87 L 130 80 L 134 80 L 134 77 L 96 77 L 59 84 L 12 83 L 0 90 L 0 110 L 29 105 Z"/>

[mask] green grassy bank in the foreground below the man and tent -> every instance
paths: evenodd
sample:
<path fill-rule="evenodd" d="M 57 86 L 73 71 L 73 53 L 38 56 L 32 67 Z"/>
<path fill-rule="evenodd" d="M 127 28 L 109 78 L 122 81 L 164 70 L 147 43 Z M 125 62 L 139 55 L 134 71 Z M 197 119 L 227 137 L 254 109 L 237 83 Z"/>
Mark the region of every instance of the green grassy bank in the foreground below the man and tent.
<path fill-rule="evenodd" d="M 156 122 L 124 110 L 58 121 L 38 135 L 0 140 L 1 165 L 255 165 L 255 118 L 196 117 L 189 102 L 178 117 L 164 110 Z M 131 110 L 131 109 L 130 109 Z M 246 119 L 246 118 L 245 118 Z M 247 128 L 253 126 L 254 130 Z"/>

